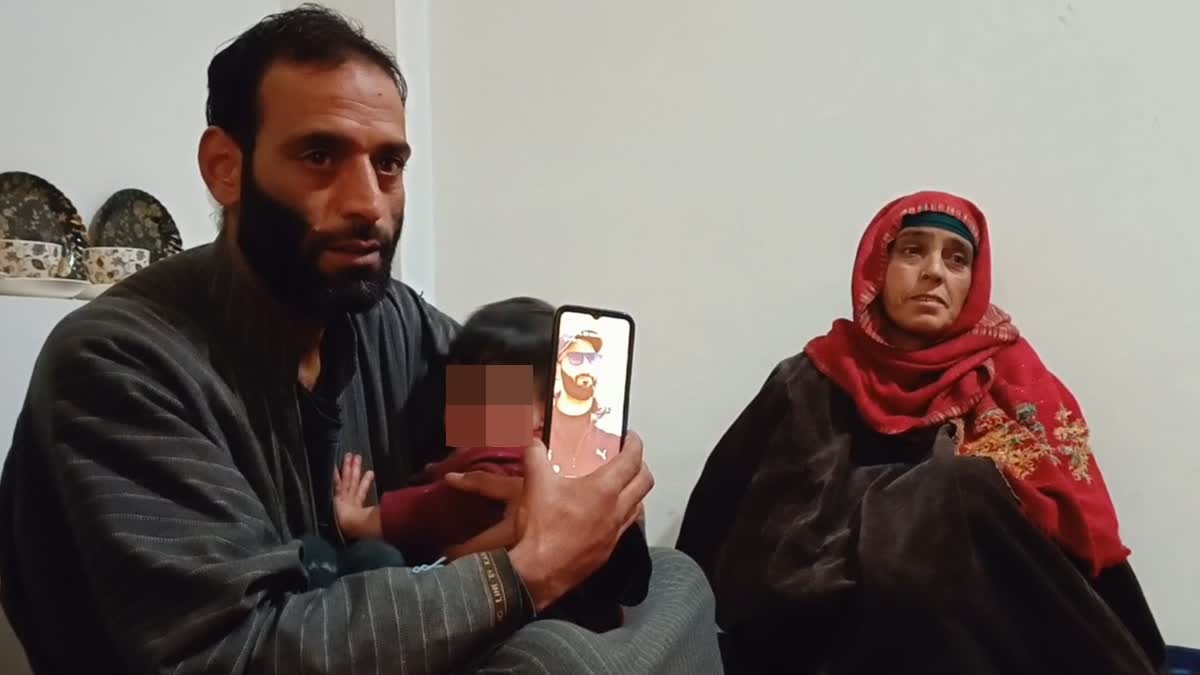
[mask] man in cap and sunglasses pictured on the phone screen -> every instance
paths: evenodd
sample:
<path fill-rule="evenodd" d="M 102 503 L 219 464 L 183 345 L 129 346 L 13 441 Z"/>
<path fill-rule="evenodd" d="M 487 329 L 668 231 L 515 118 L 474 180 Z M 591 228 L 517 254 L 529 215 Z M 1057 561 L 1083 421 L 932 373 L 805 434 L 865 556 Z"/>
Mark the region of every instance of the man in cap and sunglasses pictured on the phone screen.
<path fill-rule="evenodd" d="M 563 389 L 554 396 L 550 424 L 550 461 L 554 473 L 586 476 L 620 452 L 620 436 L 596 426 L 611 408 L 595 398 L 595 371 L 604 340 L 593 330 L 563 339 L 558 351 L 558 377 Z"/>

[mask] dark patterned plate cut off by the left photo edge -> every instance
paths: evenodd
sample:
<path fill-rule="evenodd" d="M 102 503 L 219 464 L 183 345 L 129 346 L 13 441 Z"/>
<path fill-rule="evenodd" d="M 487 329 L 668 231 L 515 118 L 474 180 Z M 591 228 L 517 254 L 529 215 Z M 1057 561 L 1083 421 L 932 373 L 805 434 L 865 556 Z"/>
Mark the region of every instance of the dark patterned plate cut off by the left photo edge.
<path fill-rule="evenodd" d="M 62 245 L 56 276 L 84 280 L 88 228 L 71 199 L 46 179 L 13 171 L 0 173 L 0 239 Z"/>

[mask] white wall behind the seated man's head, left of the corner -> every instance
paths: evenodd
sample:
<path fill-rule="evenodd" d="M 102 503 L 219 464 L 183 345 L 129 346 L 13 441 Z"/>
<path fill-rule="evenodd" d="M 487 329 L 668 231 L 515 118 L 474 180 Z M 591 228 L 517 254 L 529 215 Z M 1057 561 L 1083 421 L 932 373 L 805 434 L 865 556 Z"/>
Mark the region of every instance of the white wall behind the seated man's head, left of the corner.
<path fill-rule="evenodd" d="M 296 0 L 4 2 L 0 171 L 54 183 L 90 222 L 124 187 L 158 197 L 186 246 L 216 235 L 196 166 L 209 60 L 241 30 Z M 427 0 L 331 0 L 397 53 L 409 80 L 409 205 L 396 275 L 432 298 L 433 196 Z"/>

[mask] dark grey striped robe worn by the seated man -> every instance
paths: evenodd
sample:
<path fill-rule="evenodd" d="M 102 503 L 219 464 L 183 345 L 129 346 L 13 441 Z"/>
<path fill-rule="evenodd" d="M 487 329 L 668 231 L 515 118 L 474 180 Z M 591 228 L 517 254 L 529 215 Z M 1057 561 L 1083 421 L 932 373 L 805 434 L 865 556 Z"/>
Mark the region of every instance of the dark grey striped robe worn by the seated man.
<path fill-rule="evenodd" d="M 329 476 L 308 466 L 284 323 L 226 246 L 163 261 L 80 307 L 38 358 L 0 479 L 0 598 L 35 671 L 540 671 L 539 650 L 595 651 L 602 637 L 528 623 L 503 550 L 310 587 L 296 538 L 314 531 L 313 485 Z M 439 359 L 456 324 L 395 283 L 340 328 L 355 359 L 341 446 L 366 454 L 382 489 L 402 485 L 431 459 L 419 449 L 440 447 Z M 664 560 L 684 583 L 661 589 L 700 578 L 679 554 Z M 709 645 L 702 589 L 686 611 L 670 592 L 658 602 L 683 611 L 667 620 L 680 631 L 649 621 L 638 633 L 666 645 L 661 659 L 562 663 L 684 671 L 672 655 L 696 625 Z M 564 641 L 575 649 L 547 646 Z M 712 662 L 704 649 L 689 658 Z"/>

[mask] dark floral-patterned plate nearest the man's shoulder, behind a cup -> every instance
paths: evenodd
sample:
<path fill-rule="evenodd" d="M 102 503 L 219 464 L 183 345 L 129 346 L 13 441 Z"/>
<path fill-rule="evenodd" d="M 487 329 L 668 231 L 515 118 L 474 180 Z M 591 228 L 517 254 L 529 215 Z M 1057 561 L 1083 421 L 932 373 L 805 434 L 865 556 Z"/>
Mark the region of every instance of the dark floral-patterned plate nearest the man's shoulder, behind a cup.
<path fill-rule="evenodd" d="M 131 246 L 150 251 L 156 263 L 184 250 L 175 220 L 152 195 L 128 187 L 113 193 L 91 220 L 92 246 Z"/>

